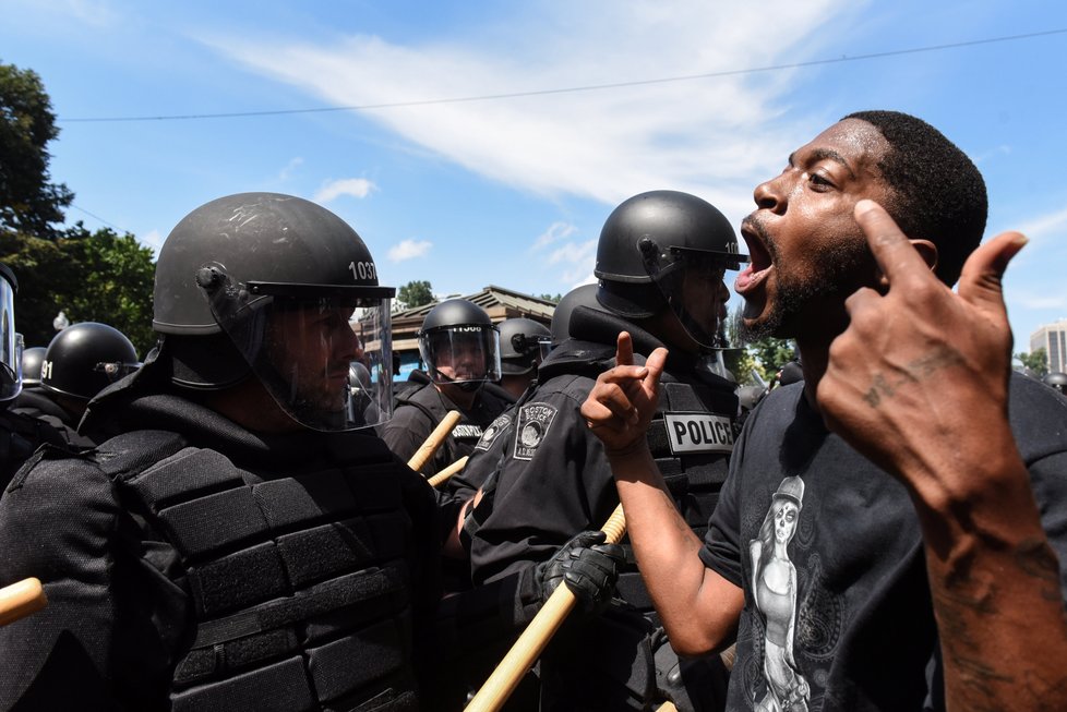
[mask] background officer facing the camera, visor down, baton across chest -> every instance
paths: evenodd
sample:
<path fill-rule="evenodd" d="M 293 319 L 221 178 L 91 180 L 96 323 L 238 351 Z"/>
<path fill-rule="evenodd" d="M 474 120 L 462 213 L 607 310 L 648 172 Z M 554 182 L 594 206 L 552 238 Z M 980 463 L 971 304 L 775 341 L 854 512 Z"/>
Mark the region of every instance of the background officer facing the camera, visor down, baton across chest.
<path fill-rule="evenodd" d="M 483 388 L 500 379 L 500 334 L 477 304 L 449 299 L 430 310 L 419 330 L 419 352 L 431 383 L 398 396 L 381 433 L 389 449 L 408 460 L 448 411 L 459 411 L 459 424 L 422 467 L 430 475 L 470 455 L 508 403 Z"/>

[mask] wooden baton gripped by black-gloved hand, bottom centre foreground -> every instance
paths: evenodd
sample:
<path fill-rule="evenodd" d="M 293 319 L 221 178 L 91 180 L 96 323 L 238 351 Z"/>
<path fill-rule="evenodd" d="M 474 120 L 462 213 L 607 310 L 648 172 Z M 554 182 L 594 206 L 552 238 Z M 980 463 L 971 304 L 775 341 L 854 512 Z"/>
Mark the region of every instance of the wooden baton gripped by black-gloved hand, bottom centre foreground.
<path fill-rule="evenodd" d="M 626 517 L 623 515 L 622 505 L 615 507 L 611 517 L 601 528 L 607 536 L 607 542 L 618 544 L 619 540 L 626 533 Z M 544 647 L 552 640 L 552 636 L 560 629 L 567 614 L 574 608 L 576 599 L 571 589 L 565 583 L 556 587 L 549 600 L 544 602 L 538 611 L 530 625 L 526 627 L 523 635 L 518 637 L 504 659 L 500 661 L 496 669 L 489 676 L 485 684 L 481 686 L 470 703 L 464 708 L 464 712 L 496 712 L 507 701 L 519 680 L 534 666 L 534 662 L 544 650 Z"/>

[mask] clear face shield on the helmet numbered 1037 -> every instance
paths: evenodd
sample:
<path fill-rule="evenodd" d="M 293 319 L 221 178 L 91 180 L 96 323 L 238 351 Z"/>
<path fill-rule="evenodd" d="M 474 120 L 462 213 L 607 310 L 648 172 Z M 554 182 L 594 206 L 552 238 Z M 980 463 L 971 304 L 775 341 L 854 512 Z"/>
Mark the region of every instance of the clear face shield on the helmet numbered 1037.
<path fill-rule="evenodd" d="M 235 286 L 212 271 L 212 313 L 290 418 L 326 432 L 389 419 L 392 288 Z"/>

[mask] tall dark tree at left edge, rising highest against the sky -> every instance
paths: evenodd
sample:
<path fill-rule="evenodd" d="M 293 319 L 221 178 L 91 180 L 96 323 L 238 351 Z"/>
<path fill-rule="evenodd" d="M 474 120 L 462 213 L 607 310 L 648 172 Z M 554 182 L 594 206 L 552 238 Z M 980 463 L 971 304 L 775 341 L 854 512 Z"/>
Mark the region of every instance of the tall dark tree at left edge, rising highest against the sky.
<path fill-rule="evenodd" d="M 31 70 L 0 64 L 0 231 L 53 240 L 74 194 L 48 173 L 59 135 L 51 101 Z"/>

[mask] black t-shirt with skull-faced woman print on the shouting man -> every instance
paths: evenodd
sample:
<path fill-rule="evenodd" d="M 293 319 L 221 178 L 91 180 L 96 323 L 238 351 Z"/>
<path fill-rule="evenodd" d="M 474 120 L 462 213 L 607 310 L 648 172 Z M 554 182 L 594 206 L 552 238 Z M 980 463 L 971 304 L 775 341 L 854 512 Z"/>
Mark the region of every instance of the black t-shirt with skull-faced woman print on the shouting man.
<path fill-rule="evenodd" d="M 1067 402 L 1017 376 L 1010 418 L 1067 590 Z M 745 594 L 729 709 L 768 696 L 824 711 L 943 709 L 914 508 L 826 431 L 803 384 L 750 417 L 700 557 Z"/>

